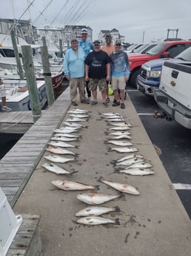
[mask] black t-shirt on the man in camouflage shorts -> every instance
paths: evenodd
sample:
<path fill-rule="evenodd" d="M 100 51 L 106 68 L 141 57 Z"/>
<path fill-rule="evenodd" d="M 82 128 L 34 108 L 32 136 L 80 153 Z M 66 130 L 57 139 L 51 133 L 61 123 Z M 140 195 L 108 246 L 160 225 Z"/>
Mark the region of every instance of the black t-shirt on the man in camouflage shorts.
<path fill-rule="evenodd" d="M 103 50 L 90 52 L 85 59 L 85 64 L 89 66 L 89 77 L 93 79 L 106 78 L 108 63 L 110 63 L 110 57 Z"/>

